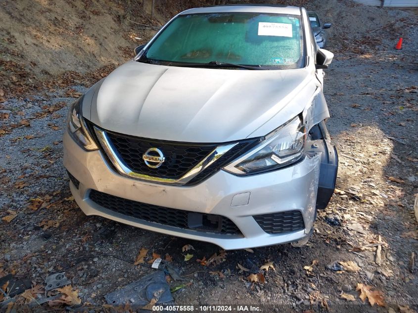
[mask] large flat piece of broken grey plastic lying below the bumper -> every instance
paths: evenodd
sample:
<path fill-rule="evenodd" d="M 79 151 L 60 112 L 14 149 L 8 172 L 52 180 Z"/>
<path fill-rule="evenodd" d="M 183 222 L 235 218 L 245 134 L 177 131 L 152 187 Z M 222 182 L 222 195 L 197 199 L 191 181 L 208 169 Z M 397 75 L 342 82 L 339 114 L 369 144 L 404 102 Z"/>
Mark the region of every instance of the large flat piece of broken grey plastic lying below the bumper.
<path fill-rule="evenodd" d="M 158 270 L 137 281 L 134 281 L 122 289 L 113 291 L 104 296 L 108 304 L 119 305 L 139 305 L 145 306 L 154 298 L 154 294 L 159 294 L 156 303 L 166 303 L 173 301 L 170 287 L 165 279 L 162 270 Z"/>

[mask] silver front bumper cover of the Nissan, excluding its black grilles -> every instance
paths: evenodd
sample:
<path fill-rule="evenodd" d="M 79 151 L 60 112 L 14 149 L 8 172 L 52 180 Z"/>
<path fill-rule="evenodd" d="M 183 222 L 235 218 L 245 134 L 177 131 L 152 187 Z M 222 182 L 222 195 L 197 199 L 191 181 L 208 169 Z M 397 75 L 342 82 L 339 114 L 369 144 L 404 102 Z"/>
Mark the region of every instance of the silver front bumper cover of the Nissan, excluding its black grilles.
<path fill-rule="evenodd" d="M 99 150 L 85 151 L 65 133 L 64 166 L 80 181 L 78 188 L 71 182 L 70 189 L 86 215 L 102 216 L 170 236 L 206 241 L 226 250 L 301 240 L 309 234 L 315 218 L 320 155 L 305 157 L 292 167 L 261 175 L 237 177 L 218 171 L 197 185 L 174 186 L 123 177 L 108 165 Z M 190 230 L 122 215 L 93 202 L 89 198 L 92 189 L 151 205 L 224 216 L 242 235 Z M 242 204 L 242 198 L 248 196 L 248 204 L 245 199 Z M 236 199 L 241 205 L 235 205 Z M 305 229 L 269 234 L 253 218 L 254 215 L 285 211 L 300 211 Z"/>

